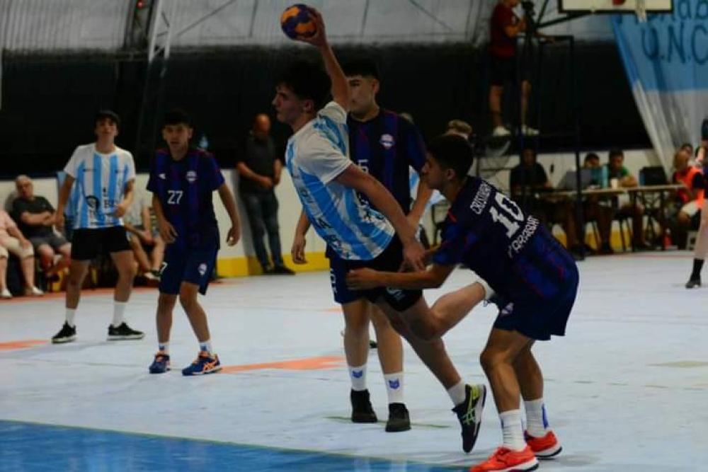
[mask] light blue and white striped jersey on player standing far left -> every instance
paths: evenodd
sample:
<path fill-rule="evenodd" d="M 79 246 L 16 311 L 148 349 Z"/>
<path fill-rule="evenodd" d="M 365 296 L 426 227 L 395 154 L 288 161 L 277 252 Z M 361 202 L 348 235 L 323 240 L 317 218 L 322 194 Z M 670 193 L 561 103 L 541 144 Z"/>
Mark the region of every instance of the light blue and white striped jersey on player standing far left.
<path fill-rule="evenodd" d="M 110 154 L 101 154 L 95 144 L 85 144 L 76 148 L 64 172 L 76 179 L 74 229 L 122 226 L 122 219 L 111 213 L 123 200 L 125 184 L 135 180 L 130 152 L 115 147 Z"/>

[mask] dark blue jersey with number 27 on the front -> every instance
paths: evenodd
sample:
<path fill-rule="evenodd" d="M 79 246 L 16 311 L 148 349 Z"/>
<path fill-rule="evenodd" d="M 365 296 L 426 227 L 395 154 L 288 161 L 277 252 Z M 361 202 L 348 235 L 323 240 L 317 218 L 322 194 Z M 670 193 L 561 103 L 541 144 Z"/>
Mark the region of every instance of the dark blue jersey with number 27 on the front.
<path fill-rule="evenodd" d="M 147 190 L 159 197 L 166 219 L 177 231 L 171 244 L 180 251 L 219 248 L 219 226 L 212 194 L 224 176 L 211 154 L 190 149 L 181 161 L 160 149 L 150 166 Z"/>

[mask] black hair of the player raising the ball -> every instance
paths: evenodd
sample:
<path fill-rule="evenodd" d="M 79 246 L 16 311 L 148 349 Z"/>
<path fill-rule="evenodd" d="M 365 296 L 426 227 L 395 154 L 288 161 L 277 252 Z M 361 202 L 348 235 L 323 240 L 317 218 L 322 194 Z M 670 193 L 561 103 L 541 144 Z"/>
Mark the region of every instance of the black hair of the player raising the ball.
<path fill-rule="evenodd" d="M 280 73 L 276 84 L 290 88 L 300 100 L 314 101 L 315 110 L 324 107 L 331 97 L 332 81 L 314 62 L 293 62 Z"/>

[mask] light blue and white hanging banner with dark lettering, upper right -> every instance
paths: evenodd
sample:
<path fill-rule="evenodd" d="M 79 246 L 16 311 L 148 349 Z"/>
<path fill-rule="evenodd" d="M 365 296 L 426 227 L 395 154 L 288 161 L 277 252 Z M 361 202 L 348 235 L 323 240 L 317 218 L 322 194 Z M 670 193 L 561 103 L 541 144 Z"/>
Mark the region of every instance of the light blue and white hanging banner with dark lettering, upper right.
<path fill-rule="evenodd" d="M 700 140 L 708 117 L 708 0 L 674 0 L 673 13 L 616 15 L 612 28 L 651 144 L 663 166 Z"/>

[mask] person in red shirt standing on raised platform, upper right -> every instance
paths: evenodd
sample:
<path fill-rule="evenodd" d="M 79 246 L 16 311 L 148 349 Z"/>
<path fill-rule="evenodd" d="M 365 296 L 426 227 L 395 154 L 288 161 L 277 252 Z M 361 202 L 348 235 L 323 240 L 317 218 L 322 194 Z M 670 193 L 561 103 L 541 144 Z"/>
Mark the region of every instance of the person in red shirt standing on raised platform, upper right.
<path fill-rule="evenodd" d="M 526 30 L 526 18 L 519 18 L 514 13 L 519 0 L 501 0 L 491 15 L 491 87 L 489 88 L 489 110 L 493 124 L 493 136 L 508 136 L 511 132 L 504 127 L 501 115 L 501 99 L 507 84 L 516 84 L 516 37 Z M 537 129 L 526 125 L 528 95 L 531 84 L 522 76 L 521 81 L 521 116 L 522 132 L 536 135 Z"/>

